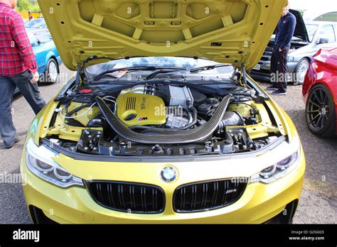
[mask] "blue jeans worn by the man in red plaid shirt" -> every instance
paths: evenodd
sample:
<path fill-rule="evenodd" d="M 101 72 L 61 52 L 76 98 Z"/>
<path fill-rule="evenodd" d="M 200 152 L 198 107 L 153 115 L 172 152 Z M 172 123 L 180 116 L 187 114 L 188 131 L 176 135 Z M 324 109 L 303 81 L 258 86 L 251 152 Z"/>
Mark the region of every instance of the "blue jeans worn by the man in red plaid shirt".
<path fill-rule="evenodd" d="M 20 89 L 31 108 L 38 114 L 46 105 L 38 91 L 38 84 L 31 84 L 32 75 L 28 70 L 14 77 L 0 77 L 0 136 L 5 146 L 12 146 L 16 139 L 16 128 L 11 116 L 11 104 L 16 87 Z"/>

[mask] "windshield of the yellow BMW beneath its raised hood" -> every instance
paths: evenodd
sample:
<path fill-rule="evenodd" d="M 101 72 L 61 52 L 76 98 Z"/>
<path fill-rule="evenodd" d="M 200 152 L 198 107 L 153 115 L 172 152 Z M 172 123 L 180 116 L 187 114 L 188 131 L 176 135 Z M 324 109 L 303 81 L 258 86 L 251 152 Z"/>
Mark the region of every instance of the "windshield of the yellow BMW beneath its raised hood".
<path fill-rule="evenodd" d="M 118 69 L 118 68 L 129 68 L 129 67 L 139 67 L 139 66 L 155 66 L 155 67 L 184 67 L 187 70 L 191 70 L 198 67 L 220 65 L 218 62 L 213 62 L 211 60 L 205 59 L 194 59 L 193 57 L 134 57 L 129 60 L 114 60 L 111 62 L 105 62 L 97 65 L 92 65 L 85 69 L 85 74 L 87 77 L 92 78 L 96 75 L 100 75 L 102 72 Z M 230 67 L 218 67 L 215 70 L 207 70 L 199 72 L 198 75 L 232 75 L 234 68 Z M 147 74 L 152 73 L 146 72 Z M 186 73 L 186 71 L 181 71 L 181 74 Z M 177 73 L 175 73 L 177 74 Z M 124 75 L 124 74 L 123 74 Z"/>

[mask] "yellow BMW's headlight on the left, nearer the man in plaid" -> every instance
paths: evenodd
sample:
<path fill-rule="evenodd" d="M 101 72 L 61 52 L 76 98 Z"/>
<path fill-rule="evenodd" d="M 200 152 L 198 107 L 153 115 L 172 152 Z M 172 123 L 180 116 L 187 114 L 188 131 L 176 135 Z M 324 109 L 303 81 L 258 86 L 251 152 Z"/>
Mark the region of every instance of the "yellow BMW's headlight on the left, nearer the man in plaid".
<path fill-rule="evenodd" d="M 56 155 L 45 146 L 36 146 L 31 139 L 27 142 L 26 164 L 33 174 L 59 187 L 84 186 L 80 177 L 70 174 L 55 163 L 53 158 Z"/>

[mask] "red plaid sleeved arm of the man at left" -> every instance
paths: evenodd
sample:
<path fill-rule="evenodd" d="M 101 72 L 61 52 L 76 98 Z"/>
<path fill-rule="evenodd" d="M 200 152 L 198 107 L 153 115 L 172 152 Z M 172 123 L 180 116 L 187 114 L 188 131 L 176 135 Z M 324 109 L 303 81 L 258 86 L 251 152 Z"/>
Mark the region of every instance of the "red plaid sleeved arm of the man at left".
<path fill-rule="evenodd" d="M 26 27 L 21 16 L 18 16 L 11 21 L 11 36 L 16 47 L 20 51 L 24 65 L 26 65 L 32 74 L 36 74 L 36 72 L 38 72 L 38 65 L 36 64 L 31 41 L 28 38 Z"/>

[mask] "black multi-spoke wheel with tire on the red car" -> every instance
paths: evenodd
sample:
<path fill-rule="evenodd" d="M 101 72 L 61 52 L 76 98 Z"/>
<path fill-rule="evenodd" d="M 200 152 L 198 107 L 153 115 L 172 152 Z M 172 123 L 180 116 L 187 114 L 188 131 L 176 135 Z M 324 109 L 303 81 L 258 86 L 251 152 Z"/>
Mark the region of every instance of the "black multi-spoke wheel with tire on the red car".
<path fill-rule="evenodd" d="M 306 124 L 316 136 L 335 135 L 336 109 L 329 89 L 323 84 L 314 86 L 306 101 Z"/>

